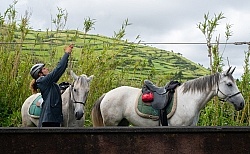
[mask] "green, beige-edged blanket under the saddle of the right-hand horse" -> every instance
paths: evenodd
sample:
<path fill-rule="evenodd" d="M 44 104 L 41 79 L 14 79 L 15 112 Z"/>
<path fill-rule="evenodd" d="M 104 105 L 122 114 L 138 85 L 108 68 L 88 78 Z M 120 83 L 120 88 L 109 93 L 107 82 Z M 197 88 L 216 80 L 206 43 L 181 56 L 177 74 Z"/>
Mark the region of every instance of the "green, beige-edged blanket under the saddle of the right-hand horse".
<path fill-rule="evenodd" d="M 169 103 L 166 109 L 168 118 L 173 115 L 176 109 L 175 96 L 176 94 L 174 94 L 172 101 Z M 142 101 L 142 93 L 139 94 L 138 100 L 136 101 L 136 113 L 143 118 L 159 120 L 159 110 L 154 109 L 149 103 L 144 103 Z"/>

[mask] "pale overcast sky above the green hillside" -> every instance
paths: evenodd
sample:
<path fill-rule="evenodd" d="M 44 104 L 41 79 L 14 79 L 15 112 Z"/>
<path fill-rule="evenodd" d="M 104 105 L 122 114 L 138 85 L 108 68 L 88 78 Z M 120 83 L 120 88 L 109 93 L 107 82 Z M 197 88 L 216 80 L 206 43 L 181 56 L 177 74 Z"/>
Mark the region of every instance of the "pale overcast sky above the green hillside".
<path fill-rule="evenodd" d="M 0 13 L 3 15 L 12 1 L 1 1 Z M 212 42 L 219 34 L 220 42 L 226 41 L 226 24 L 232 25 L 233 32 L 228 42 L 250 41 L 249 0 L 19 0 L 16 4 L 19 19 L 25 10 L 32 13 L 30 26 L 34 30 L 51 29 L 51 16 L 55 18 L 57 7 L 68 12 L 65 29 L 82 30 L 84 19 L 90 18 L 95 19 L 95 29 L 89 33 L 112 37 L 114 31 L 118 32 L 125 19 L 128 19 L 132 25 L 127 27 L 124 39 L 134 41 L 140 35 L 142 42 L 164 43 L 205 43 L 205 37 L 197 24 L 204 21 L 204 14 L 208 12 L 210 19 L 222 12 L 226 18 L 219 23 Z M 206 68 L 209 66 L 205 44 L 149 46 L 173 50 Z M 228 58 L 230 65 L 236 66 L 234 77 L 240 78 L 248 46 L 227 45 L 223 50 L 224 46 L 220 45 L 220 51 L 224 51 L 224 63 L 228 64 Z"/>

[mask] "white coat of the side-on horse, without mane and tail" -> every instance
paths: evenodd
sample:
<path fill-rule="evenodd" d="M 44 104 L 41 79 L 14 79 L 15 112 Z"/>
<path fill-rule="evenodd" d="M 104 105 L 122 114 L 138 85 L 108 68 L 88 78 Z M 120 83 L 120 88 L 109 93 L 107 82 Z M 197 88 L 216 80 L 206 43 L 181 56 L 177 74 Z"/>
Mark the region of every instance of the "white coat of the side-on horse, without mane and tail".
<path fill-rule="evenodd" d="M 169 126 L 195 126 L 199 119 L 200 110 L 214 96 L 226 99 L 227 96 L 236 94 L 227 101 L 234 104 L 237 110 L 241 110 L 244 107 L 244 98 L 239 93 L 235 82 L 228 76 L 232 75 L 234 71 L 234 69 L 232 71 L 230 69 L 231 67 L 220 73 L 219 80 L 212 87 L 206 87 L 203 91 L 194 90 L 183 93 L 184 84 L 177 87 L 177 107 L 174 115 L 168 119 Z M 192 81 L 195 82 L 195 80 Z M 158 126 L 158 121 L 143 118 L 136 113 L 135 102 L 140 93 L 141 89 L 129 86 L 121 86 L 106 93 L 100 103 L 104 126 L 117 126 L 123 118 L 134 126 Z"/>

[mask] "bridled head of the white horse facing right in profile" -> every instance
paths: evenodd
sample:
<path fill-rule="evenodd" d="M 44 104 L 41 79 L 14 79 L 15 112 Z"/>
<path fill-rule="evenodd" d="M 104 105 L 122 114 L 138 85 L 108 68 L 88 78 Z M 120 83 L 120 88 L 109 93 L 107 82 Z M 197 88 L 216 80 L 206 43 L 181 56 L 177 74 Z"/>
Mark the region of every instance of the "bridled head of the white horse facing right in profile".
<path fill-rule="evenodd" d="M 234 69 L 231 67 L 220 74 L 220 79 L 217 83 L 217 95 L 223 101 L 232 103 L 237 111 L 242 110 L 245 105 L 245 100 L 239 91 L 234 78 L 232 76 Z"/>

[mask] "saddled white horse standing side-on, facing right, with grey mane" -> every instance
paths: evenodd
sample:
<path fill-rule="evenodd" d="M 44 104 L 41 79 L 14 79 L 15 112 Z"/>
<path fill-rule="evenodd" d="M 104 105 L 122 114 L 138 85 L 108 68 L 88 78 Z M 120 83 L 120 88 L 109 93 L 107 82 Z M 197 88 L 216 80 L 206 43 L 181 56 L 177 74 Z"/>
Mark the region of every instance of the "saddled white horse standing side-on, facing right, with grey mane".
<path fill-rule="evenodd" d="M 203 76 L 178 86 L 174 93 L 175 110 L 168 116 L 168 125 L 197 125 L 200 110 L 214 96 L 232 103 L 237 111 L 242 110 L 245 100 L 233 79 L 234 70 L 230 67 L 223 73 Z M 153 116 L 138 114 L 136 102 L 141 93 L 139 88 L 121 86 L 103 94 L 92 109 L 93 126 L 159 126 Z"/>

